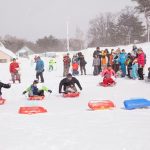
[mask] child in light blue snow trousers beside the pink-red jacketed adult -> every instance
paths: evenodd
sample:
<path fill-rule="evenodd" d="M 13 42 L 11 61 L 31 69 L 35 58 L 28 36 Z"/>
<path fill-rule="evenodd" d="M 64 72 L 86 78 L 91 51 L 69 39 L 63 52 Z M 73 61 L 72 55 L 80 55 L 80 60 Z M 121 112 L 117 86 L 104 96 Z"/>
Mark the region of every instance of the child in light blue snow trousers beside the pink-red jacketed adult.
<path fill-rule="evenodd" d="M 133 60 L 133 63 L 132 63 L 131 77 L 133 80 L 136 80 L 138 78 L 138 61 L 137 61 L 137 58 L 135 58 Z"/>

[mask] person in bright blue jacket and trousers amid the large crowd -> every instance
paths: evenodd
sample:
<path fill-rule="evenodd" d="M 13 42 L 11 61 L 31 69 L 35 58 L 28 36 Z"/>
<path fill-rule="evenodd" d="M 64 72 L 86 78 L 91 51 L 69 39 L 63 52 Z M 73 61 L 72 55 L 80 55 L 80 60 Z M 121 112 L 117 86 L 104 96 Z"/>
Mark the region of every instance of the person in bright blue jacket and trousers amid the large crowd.
<path fill-rule="evenodd" d="M 123 73 L 122 77 L 126 76 L 126 65 L 125 65 L 126 59 L 127 59 L 127 55 L 125 53 L 125 50 L 123 49 L 119 55 L 119 64 Z"/>

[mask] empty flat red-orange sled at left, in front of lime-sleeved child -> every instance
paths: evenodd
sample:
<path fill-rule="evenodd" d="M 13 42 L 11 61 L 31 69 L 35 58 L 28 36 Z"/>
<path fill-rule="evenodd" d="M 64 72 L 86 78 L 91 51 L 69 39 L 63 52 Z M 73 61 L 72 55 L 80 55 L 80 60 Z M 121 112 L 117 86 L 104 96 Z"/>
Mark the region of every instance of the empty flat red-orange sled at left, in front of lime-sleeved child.
<path fill-rule="evenodd" d="M 32 106 L 32 107 L 20 107 L 19 114 L 37 114 L 37 113 L 46 113 L 47 110 L 43 107 Z"/>

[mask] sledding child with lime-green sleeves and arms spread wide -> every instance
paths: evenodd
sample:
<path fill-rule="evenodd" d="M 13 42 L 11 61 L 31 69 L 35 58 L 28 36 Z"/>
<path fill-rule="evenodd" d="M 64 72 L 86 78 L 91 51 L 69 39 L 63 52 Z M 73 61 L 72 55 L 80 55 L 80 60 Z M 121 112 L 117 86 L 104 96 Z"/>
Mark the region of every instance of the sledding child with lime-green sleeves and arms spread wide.
<path fill-rule="evenodd" d="M 44 91 L 46 92 L 49 92 L 49 93 L 52 93 L 51 90 L 49 90 L 47 87 L 43 86 L 41 89 L 38 89 L 37 87 L 37 84 L 39 83 L 38 80 L 34 80 L 33 81 L 33 84 L 28 87 L 24 92 L 23 94 L 27 93 L 28 92 L 28 96 L 35 96 L 35 95 L 38 95 L 38 96 L 44 96 Z"/>

